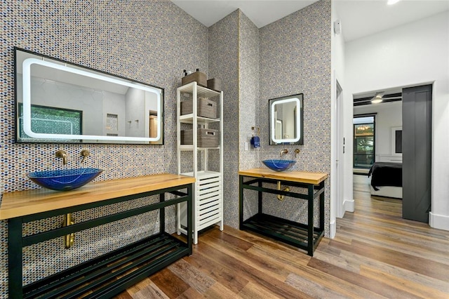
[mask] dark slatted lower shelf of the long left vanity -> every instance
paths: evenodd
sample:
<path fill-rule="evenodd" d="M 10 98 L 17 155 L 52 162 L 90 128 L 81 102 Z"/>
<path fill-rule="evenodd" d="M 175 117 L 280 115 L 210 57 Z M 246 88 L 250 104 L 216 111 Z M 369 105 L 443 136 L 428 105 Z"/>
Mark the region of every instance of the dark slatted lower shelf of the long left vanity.
<path fill-rule="evenodd" d="M 110 298 L 189 255 L 185 242 L 165 232 L 23 287 L 23 298 Z"/>

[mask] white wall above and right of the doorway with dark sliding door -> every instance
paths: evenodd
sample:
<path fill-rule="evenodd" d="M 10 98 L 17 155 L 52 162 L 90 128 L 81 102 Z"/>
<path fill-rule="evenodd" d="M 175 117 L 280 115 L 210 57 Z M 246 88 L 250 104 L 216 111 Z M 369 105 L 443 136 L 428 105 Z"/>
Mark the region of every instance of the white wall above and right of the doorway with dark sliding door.
<path fill-rule="evenodd" d="M 351 41 L 345 48 L 351 94 L 434 84 L 429 224 L 449 230 L 449 11 Z M 347 112 L 351 100 L 345 98 Z"/>

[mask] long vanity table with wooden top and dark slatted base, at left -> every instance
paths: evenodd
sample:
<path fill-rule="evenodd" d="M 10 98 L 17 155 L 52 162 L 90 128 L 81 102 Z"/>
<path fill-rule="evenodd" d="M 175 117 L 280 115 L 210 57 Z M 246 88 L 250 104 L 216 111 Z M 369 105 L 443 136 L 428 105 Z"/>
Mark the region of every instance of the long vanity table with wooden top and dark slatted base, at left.
<path fill-rule="evenodd" d="M 192 215 L 194 181 L 194 178 L 182 175 L 161 173 L 95 182 L 69 192 L 41 189 L 5 193 L 0 206 L 0 220 L 8 219 L 9 298 L 79 298 L 81 295 L 86 295 L 84 298 L 112 298 L 175 260 L 191 255 L 192 234 L 187 241 L 181 241 L 165 232 L 164 208 L 187 202 L 187 215 Z M 177 197 L 166 199 L 166 193 Z M 156 203 L 55 230 L 22 235 L 22 224 L 26 222 L 157 194 L 159 202 Z M 22 285 L 24 247 L 154 210 L 159 210 L 159 233 L 32 284 Z M 192 231 L 192 217 L 187 219 L 187 230 Z"/>

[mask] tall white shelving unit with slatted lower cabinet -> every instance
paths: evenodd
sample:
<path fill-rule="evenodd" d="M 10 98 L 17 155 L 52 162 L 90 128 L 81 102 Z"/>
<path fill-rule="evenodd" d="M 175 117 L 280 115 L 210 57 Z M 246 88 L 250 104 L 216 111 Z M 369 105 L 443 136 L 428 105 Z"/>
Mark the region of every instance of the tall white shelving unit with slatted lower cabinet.
<path fill-rule="evenodd" d="M 210 225 L 220 225 L 223 230 L 223 92 L 199 86 L 192 82 L 177 88 L 177 173 L 196 178 L 193 193 L 193 237 L 198 244 L 198 232 Z M 181 101 L 193 101 L 193 112 L 181 115 Z M 217 102 L 217 119 L 198 116 L 198 99 L 207 98 Z M 182 128 L 193 129 L 193 144 L 181 144 Z M 217 128 L 218 147 L 198 147 L 198 133 L 195 128 Z M 182 153 L 191 152 L 185 170 Z M 210 159 L 210 154 L 213 159 Z M 192 160 L 192 161 L 190 161 Z M 190 163 L 192 162 L 192 163 Z M 211 166 L 213 164 L 213 166 Z M 177 205 L 177 234 L 187 234 L 187 206 Z"/>

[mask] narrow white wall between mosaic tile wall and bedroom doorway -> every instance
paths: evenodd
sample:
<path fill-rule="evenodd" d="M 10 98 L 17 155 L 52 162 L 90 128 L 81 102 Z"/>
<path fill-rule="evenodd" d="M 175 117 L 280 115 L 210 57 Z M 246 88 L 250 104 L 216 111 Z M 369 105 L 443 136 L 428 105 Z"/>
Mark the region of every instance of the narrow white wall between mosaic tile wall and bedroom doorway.
<path fill-rule="evenodd" d="M 334 22 L 338 20 L 338 12 L 335 8 L 335 1 L 331 1 L 331 36 L 330 36 L 330 67 L 331 73 L 331 88 L 330 88 L 330 237 L 335 237 L 336 232 L 336 218 L 343 217 L 344 211 L 354 211 L 351 208 L 351 204 L 345 208 L 345 202 L 352 201 L 352 169 L 347 173 L 344 173 L 344 166 L 346 165 L 347 152 L 343 154 L 342 151 L 342 138 L 347 140 L 347 132 L 344 128 L 351 121 L 352 116 L 348 117 L 344 115 L 344 101 L 337 105 L 337 81 L 340 87 L 343 89 L 344 100 L 344 39 L 343 34 L 335 34 Z M 344 31 L 344 25 L 342 25 L 342 32 Z M 352 107 L 352 104 L 351 104 Z M 351 112 L 352 113 L 352 112 Z M 337 160 L 339 160 L 337 164 Z M 351 159 L 349 159 L 351 161 Z"/>

